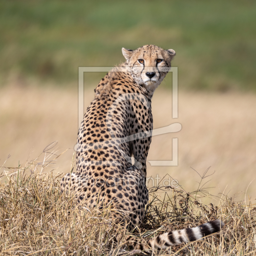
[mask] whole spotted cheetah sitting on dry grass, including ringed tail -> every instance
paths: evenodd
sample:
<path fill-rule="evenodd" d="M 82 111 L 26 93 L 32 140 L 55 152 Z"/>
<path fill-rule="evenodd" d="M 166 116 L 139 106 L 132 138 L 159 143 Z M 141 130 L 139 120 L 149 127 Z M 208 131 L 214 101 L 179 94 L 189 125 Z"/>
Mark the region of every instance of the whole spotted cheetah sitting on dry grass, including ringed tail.
<path fill-rule="evenodd" d="M 129 228 L 140 227 L 146 214 L 148 189 L 146 160 L 151 143 L 151 99 L 171 68 L 172 49 L 144 45 L 122 48 L 126 62 L 107 73 L 94 90 L 77 137 L 76 169 L 61 180 L 61 189 L 73 191 L 86 207 L 112 202 L 125 215 Z M 132 162 L 134 160 L 134 163 Z M 167 248 L 220 231 L 220 220 L 196 228 L 171 231 L 134 242 L 141 250 Z"/>

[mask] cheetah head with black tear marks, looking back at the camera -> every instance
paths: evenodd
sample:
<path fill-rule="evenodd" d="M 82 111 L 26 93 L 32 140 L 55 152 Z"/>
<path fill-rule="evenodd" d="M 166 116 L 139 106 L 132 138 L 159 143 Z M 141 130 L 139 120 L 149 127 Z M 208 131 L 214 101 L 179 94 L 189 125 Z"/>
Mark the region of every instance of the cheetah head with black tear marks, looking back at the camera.
<path fill-rule="evenodd" d="M 134 51 L 122 48 L 122 52 L 135 82 L 149 92 L 154 92 L 161 84 L 175 55 L 172 49 L 164 50 L 152 44 Z"/>

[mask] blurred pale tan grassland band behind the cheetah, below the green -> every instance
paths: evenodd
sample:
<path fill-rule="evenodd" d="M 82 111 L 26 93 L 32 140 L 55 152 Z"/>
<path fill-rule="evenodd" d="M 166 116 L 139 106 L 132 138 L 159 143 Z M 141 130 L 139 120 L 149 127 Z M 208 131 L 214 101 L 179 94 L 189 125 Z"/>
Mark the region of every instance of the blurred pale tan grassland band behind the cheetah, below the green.
<path fill-rule="evenodd" d="M 93 99 L 93 89 L 85 88 L 84 109 Z M 68 172 L 78 131 L 77 84 L 63 89 L 51 85 L 22 87 L 19 82 L 0 90 L 0 165 L 9 154 L 6 166 L 17 167 L 19 161 L 22 165 L 28 155 L 33 159 L 47 144 L 58 140 L 59 149 L 69 149 L 58 158 L 56 166 L 51 165 L 53 174 Z M 179 91 L 179 116 L 172 119 L 171 91 L 160 86 L 152 100 L 154 128 L 179 122 L 182 130 L 153 137 L 148 160 L 171 160 L 172 138 L 177 137 L 179 161 L 178 166 L 171 167 L 147 163 L 148 177 L 169 174 L 191 192 L 200 180 L 192 168 L 202 174 L 211 166 L 209 172 L 215 173 L 207 183 L 207 187 L 213 187 L 210 193 L 233 197 L 244 191 L 236 194 L 241 194 L 238 201 L 243 200 L 246 188 L 256 178 L 255 109 L 256 95 L 252 93 Z M 247 190 L 251 200 L 256 198 L 255 181 Z M 213 204 L 218 202 L 214 197 L 211 200 Z"/>

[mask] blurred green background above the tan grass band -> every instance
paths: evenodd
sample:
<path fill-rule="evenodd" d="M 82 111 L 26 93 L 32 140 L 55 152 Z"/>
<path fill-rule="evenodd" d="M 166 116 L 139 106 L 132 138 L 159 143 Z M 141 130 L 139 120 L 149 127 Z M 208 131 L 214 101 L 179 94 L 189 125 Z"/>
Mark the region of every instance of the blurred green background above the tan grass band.
<path fill-rule="evenodd" d="M 255 1 L 1 1 L 0 84 L 70 86 L 79 66 L 156 44 L 176 51 L 180 89 L 256 91 L 255 32 Z"/>

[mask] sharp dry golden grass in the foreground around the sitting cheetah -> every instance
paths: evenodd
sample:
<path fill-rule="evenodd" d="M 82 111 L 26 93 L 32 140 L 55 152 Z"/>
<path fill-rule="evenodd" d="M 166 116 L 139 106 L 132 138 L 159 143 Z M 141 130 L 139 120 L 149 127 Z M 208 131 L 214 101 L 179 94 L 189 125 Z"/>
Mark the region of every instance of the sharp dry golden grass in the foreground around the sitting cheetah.
<path fill-rule="evenodd" d="M 49 146 L 22 168 L 1 167 L 0 255 L 142 255 L 126 245 L 128 232 L 111 217 L 111 207 L 81 208 L 72 196 L 60 193 L 61 176 L 53 175 L 50 167 L 56 157 L 55 148 Z M 195 192 L 171 187 L 149 191 L 148 213 L 140 233 L 132 234 L 141 243 L 166 230 L 195 227 L 216 218 L 226 224 L 221 234 L 203 242 L 173 246 L 154 255 L 255 255 L 255 205 L 222 197 L 215 206 L 206 206 L 195 200 Z"/>

